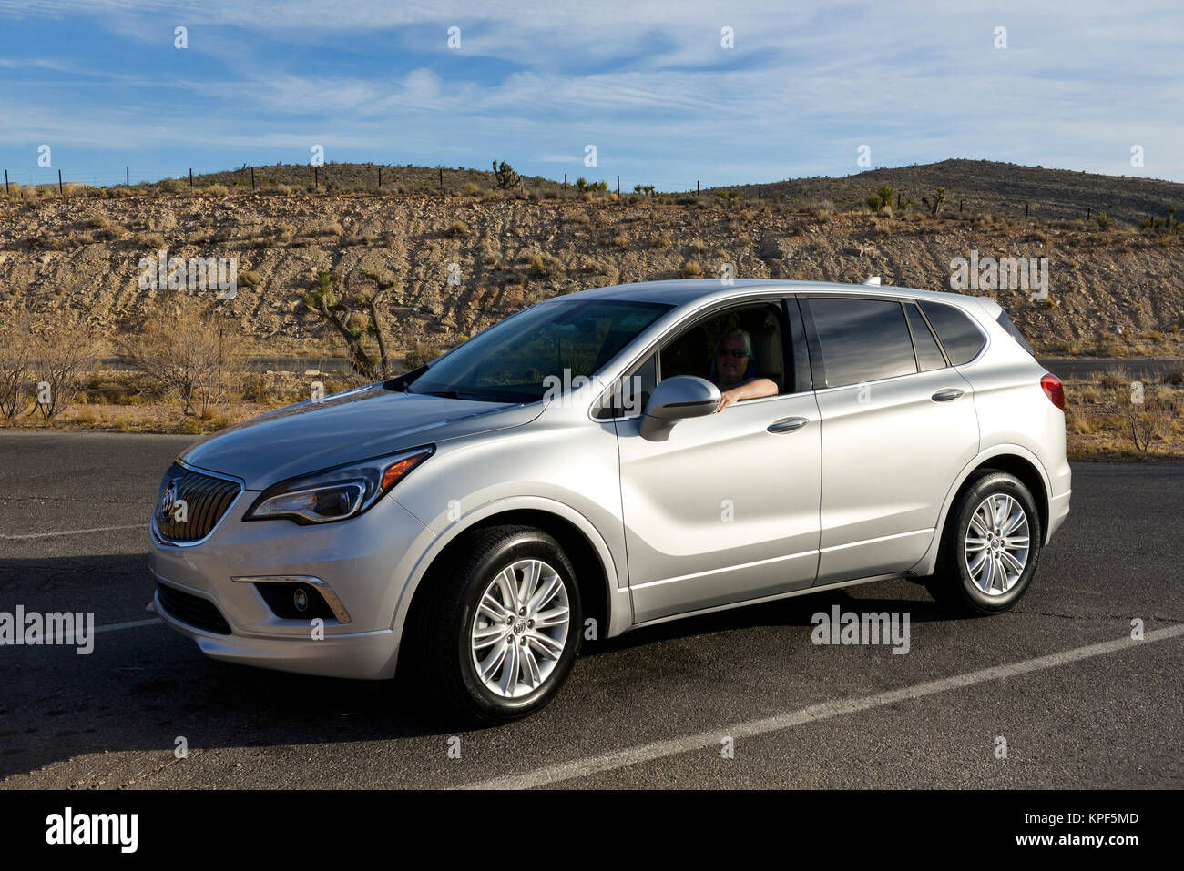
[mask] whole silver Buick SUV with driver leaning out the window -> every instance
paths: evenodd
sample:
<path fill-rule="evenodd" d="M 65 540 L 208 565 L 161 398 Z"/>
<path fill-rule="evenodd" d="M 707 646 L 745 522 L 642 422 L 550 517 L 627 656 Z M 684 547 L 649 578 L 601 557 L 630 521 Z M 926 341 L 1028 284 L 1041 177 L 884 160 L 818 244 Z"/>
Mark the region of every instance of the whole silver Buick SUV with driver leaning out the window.
<path fill-rule="evenodd" d="M 154 607 L 215 659 L 416 679 L 478 722 L 585 639 L 906 576 L 1024 594 L 1069 511 L 1064 399 L 995 302 L 676 280 L 558 297 L 167 471 Z"/>

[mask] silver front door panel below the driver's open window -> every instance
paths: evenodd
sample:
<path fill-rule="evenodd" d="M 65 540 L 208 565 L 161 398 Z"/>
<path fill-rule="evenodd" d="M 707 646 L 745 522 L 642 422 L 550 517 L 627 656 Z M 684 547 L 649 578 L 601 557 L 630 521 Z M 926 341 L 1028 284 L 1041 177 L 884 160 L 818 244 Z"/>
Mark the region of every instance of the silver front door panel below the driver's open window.
<path fill-rule="evenodd" d="M 665 441 L 643 439 L 639 425 L 616 425 L 637 622 L 813 583 L 822 441 L 812 393 L 681 420 Z"/>

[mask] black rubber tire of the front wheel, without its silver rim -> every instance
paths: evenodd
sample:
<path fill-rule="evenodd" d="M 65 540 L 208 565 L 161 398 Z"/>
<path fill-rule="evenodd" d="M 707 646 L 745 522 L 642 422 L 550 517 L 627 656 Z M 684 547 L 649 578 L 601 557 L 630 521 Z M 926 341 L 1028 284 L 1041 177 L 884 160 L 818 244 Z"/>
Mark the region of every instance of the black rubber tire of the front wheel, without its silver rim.
<path fill-rule="evenodd" d="M 555 696 L 579 656 L 583 608 L 575 569 L 559 542 L 532 527 L 489 527 L 469 535 L 452 553 L 455 557 L 435 567 L 416 596 L 407 651 L 412 654 L 412 683 L 439 712 L 465 723 L 488 725 L 534 714 Z M 526 559 L 551 566 L 566 588 L 567 635 L 541 684 L 527 695 L 508 698 L 482 682 L 470 633 L 485 589 L 504 568 Z"/>

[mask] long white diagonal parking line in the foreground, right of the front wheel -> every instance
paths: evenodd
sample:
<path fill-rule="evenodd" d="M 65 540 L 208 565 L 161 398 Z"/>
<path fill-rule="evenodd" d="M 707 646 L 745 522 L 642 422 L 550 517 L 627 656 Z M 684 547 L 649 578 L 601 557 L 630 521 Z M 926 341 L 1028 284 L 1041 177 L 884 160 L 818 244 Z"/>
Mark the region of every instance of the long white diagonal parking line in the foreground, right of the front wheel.
<path fill-rule="evenodd" d="M 790 729 L 794 725 L 803 725 L 805 723 L 826 720 L 829 717 L 842 716 L 844 714 L 858 714 L 860 711 L 881 708 L 887 704 L 895 704 L 896 702 L 924 698 L 925 696 L 932 696 L 937 692 L 960 690 L 966 686 L 986 683 L 987 680 L 997 680 L 1003 677 L 1015 677 L 1016 675 L 1025 675 L 1032 671 L 1055 669 L 1058 665 L 1076 663 L 1082 659 L 1089 659 L 1090 657 L 1099 657 L 1106 653 L 1115 653 L 1118 651 L 1130 650 L 1131 647 L 1138 647 L 1153 641 L 1178 638 L 1180 635 L 1184 635 L 1184 624 L 1177 624 L 1176 626 L 1169 626 L 1166 628 L 1156 630 L 1154 632 L 1148 632 L 1144 635 L 1141 641 L 1135 641 L 1131 638 L 1121 638 L 1115 641 L 1090 644 L 1086 647 L 1075 647 L 1074 650 L 1067 650 L 1061 653 L 1050 653 L 1045 657 L 1027 659 L 1024 662 L 1011 663 L 1009 665 L 995 665 L 990 669 L 971 671 L 965 675 L 955 675 L 954 677 L 931 680 L 928 683 L 916 684 L 915 686 L 906 686 L 903 689 L 890 690 L 888 692 L 877 692 L 874 696 L 822 702 L 819 704 L 813 704 L 809 708 L 803 708 L 802 710 L 787 714 L 776 714 L 771 717 L 762 717 L 761 720 L 749 720 L 744 723 L 733 723 L 732 725 L 726 725 L 709 733 L 684 735 L 682 737 L 669 738 L 667 741 L 655 741 L 649 744 L 639 744 L 637 747 L 629 747 L 624 750 L 605 753 L 599 756 L 588 756 L 572 762 L 561 762 L 554 766 L 536 768 L 535 770 L 527 772 L 526 774 L 513 774 L 501 778 L 491 778 L 475 783 L 466 783 L 461 788 L 529 789 L 532 787 L 547 786 L 548 783 L 558 783 L 573 778 L 586 778 L 592 774 L 599 774 L 600 772 L 611 772 L 616 768 L 626 768 L 629 766 L 636 766 L 641 762 L 651 762 L 656 759 L 674 756 L 680 753 L 702 750 L 708 747 L 718 748 L 720 738 L 725 736 L 735 740 L 748 738 L 755 735 L 764 735 L 766 733 L 779 731 L 781 729 Z"/>

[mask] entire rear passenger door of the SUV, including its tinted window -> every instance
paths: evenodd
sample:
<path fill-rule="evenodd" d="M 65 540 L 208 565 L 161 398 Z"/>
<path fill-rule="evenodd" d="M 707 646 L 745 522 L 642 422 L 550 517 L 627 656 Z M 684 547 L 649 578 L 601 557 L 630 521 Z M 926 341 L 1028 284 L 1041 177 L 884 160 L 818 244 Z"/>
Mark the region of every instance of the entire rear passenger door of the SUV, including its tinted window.
<path fill-rule="evenodd" d="M 802 308 L 822 417 L 816 582 L 903 572 L 978 453 L 973 388 L 910 301 L 810 296 Z"/>

